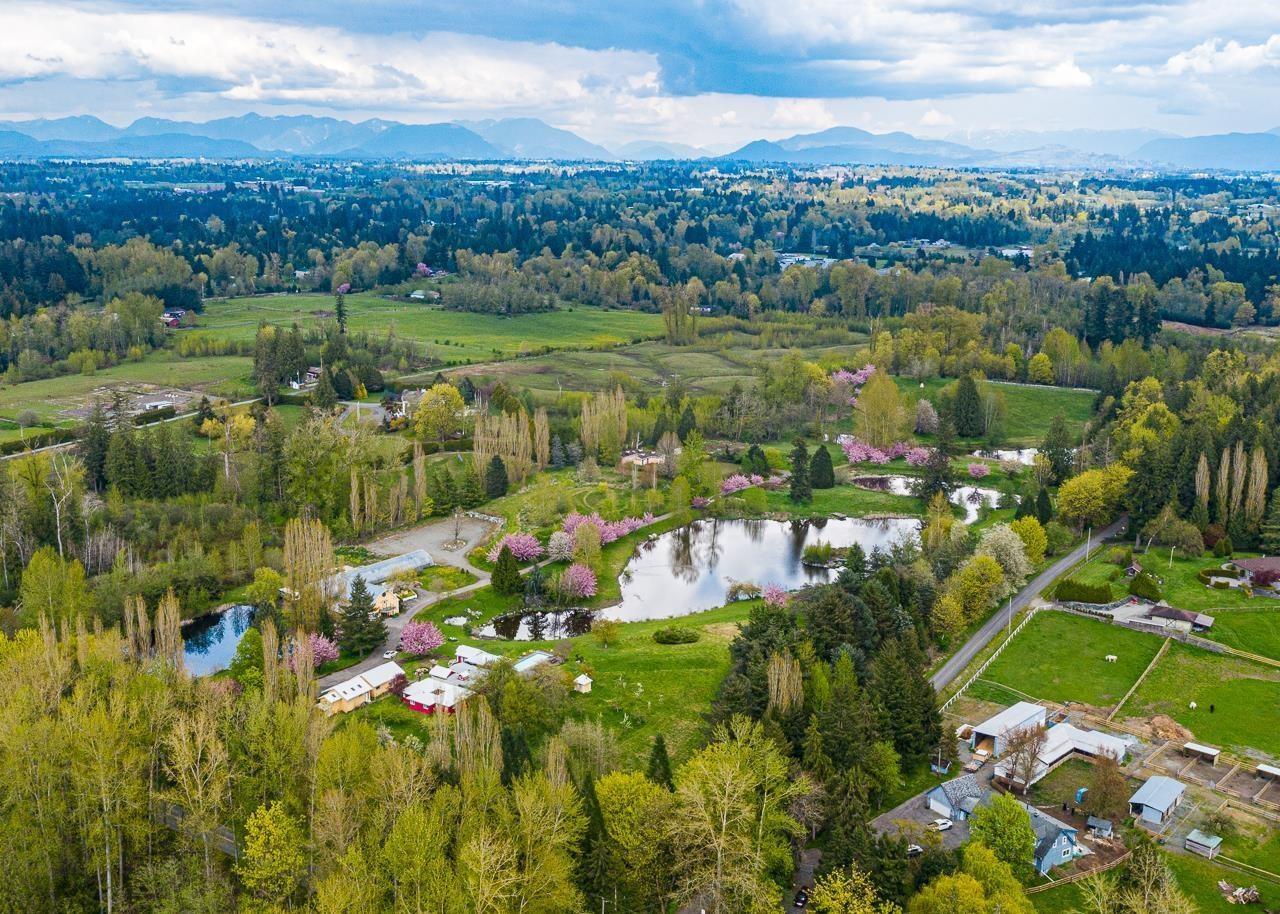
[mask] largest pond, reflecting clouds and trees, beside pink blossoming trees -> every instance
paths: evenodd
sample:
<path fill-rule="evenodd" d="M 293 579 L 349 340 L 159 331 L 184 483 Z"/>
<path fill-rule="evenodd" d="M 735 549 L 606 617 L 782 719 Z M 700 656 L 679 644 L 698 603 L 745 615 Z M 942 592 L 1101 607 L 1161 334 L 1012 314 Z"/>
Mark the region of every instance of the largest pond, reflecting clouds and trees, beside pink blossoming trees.
<path fill-rule="evenodd" d="M 914 517 L 842 517 L 812 521 L 695 521 L 645 540 L 620 576 L 622 602 L 599 611 L 531 611 L 499 616 L 475 630 L 480 637 L 516 641 L 585 635 L 595 618 L 640 622 L 675 618 L 724 605 L 735 581 L 778 584 L 787 590 L 832 580 L 837 571 L 800 559 L 806 545 L 858 543 L 867 553 L 914 538 Z"/>

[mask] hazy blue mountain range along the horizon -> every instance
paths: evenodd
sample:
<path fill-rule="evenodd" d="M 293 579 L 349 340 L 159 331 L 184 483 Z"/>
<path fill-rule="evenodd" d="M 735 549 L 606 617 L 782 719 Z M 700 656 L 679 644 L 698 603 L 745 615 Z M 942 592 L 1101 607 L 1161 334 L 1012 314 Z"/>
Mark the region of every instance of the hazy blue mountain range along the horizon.
<path fill-rule="evenodd" d="M 796 165 L 954 168 L 1124 168 L 1280 170 L 1280 128 L 1183 137 L 1151 129 L 960 131 L 945 140 L 832 127 L 755 140 L 723 155 L 686 143 L 636 140 L 614 150 L 536 118 L 404 124 L 315 115 L 244 114 L 204 123 L 140 118 L 114 127 L 92 115 L 0 122 L 0 157 L 320 156 L 392 160 L 580 161 L 721 159 Z"/>

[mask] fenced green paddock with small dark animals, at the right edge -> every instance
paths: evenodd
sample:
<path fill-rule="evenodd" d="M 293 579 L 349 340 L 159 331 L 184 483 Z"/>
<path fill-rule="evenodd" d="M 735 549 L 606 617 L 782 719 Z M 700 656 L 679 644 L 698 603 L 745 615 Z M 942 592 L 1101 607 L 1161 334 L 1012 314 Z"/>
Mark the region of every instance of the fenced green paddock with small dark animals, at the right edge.
<path fill-rule="evenodd" d="M 1192 702 L 1197 705 L 1194 710 Z M 1276 667 L 1174 641 L 1123 713 L 1125 717 L 1169 714 L 1201 742 L 1253 748 L 1280 758 L 1280 668 Z"/>

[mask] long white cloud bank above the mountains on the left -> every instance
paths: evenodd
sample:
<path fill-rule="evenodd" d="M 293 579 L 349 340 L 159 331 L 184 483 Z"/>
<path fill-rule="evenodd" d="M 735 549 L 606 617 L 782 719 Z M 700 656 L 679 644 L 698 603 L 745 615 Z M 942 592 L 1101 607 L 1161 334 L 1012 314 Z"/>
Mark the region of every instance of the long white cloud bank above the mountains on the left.
<path fill-rule="evenodd" d="M 372 36 L 56 3 L 0 8 L 4 82 L 160 79 L 248 104 L 486 111 L 650 93 L 657 70 L 643 52 L 448 32 Z"/>

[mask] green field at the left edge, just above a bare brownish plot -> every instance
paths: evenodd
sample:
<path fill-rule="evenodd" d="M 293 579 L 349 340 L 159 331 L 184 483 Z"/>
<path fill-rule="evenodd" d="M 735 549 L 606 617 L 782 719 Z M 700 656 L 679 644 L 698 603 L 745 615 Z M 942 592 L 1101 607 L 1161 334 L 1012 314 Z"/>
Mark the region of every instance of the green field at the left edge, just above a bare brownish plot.
<path fill-rule="evenodd" d="M 244 356 L 178 358 L 169 352 L 152 352 L 142 361 L 124 362 L 91 375 L 63 375 L 0 387 L 0 416 L 13 419 L 23 410 L 33 410 L 42 420 L 61 422 L 67 419 L 61 415 L 64 410 L 82 407 L 95 396 L 110 399 L 116 389 L 142 393 L 148 388 L 175 385 L 211 396 L 252 396 L 251 361 Z"/>

